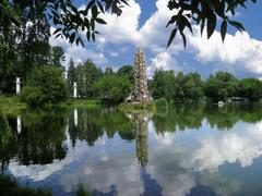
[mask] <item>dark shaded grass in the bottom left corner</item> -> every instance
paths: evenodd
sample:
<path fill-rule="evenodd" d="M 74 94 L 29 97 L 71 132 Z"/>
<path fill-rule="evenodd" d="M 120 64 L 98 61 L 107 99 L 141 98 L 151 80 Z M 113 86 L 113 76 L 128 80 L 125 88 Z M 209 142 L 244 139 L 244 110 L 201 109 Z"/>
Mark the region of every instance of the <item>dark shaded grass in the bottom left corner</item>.
<path fill-rule="evenodd" d="M 51 192 L 46 188 L 32 188 L 21 186 L 14 179 L 8 175 L 0 175 L 0 189 L 2 196 L 49 196 Z"/>

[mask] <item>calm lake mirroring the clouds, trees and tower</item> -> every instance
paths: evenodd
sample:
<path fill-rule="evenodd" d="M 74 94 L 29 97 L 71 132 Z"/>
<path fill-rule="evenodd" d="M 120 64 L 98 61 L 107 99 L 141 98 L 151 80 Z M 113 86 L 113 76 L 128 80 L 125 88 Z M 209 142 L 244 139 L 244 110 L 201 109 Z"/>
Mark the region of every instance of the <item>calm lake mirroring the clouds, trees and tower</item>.
<path fill-rule="evenodd" d="M 2 172 L 73 195 L 262 195 L 262 106 L 177 103 L 155 113 L 116 108 L 9 115 L 17 136 Z"/>

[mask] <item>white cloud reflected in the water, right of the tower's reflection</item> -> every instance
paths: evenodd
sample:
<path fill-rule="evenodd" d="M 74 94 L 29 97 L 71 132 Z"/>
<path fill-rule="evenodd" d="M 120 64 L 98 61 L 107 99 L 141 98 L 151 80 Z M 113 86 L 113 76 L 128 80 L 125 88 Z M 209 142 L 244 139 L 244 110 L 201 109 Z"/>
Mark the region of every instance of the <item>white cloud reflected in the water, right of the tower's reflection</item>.
<path fill-rule="evenodd" d="M 209 127 L 206 127 L 209 128 Z M 183 136 L 190 137 L 191 144 L 181 144 Z M 225 162 L 239 162 L 241 167 L 248 167 L 253 160 L 262 155 L 262 122 L 247 124 L 239 122 L 230 132 L 212 131 L 204 133 L 188 131 L 170 136 L 164 134 L 155 135 L 155 151 L 168 151 L 170 154 L 187 155 L 179 159 L 180 166 L 194 171 L 216 171 Z M 169 151 L 169 149 L 176 149 Z M 153 155 L 154 156 L 154 155 Z M 171 157 L 171 156 L 169 156 Z"/>

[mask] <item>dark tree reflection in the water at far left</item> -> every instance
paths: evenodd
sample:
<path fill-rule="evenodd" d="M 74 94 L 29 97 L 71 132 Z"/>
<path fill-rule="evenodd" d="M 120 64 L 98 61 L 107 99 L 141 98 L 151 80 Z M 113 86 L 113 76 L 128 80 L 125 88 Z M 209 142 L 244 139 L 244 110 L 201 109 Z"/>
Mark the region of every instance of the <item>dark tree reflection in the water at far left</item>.
<path fill-rule="evenodd" d="M 22 117 L 9 118 L 9 125 L 11 148 L 1 148 L 1 151 L 9 155 L 9 160 L 15 157 L 21 164 L 29 166 L 48 164 L 53 159 L 61 160 L 66 157 L 66 122 L 62 112 L 25 112 Z M 4 137 L 5 143 L 10 140 L 4 134 L 1 137 Z M 7 156 L 1 156 L 1 159 L 4 157 Z"/>

